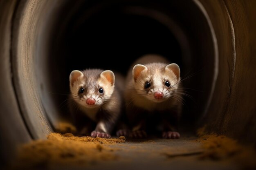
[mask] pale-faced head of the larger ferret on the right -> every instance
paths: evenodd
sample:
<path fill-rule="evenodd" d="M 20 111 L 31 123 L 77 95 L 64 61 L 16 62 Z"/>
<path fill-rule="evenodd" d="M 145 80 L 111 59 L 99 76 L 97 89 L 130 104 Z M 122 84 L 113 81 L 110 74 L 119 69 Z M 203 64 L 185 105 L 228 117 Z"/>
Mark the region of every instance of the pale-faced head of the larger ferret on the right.
<path fill-rule="evenodd" d="M 177 64 L 137 64 L 132 70 L 134 87 L 139 95 L 153 102 L 175 98 L 180 82 L 180 67 Z"/>

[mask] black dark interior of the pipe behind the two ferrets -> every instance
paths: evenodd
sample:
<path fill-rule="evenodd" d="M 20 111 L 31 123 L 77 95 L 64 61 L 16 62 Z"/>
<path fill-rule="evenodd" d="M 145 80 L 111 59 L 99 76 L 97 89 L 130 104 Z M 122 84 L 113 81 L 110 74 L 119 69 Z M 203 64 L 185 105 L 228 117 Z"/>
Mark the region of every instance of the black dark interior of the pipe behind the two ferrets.
<path fill-rule="evenodd" d="M 212 87 L 214 52 L 209 26 L 195 4 L 69 2 L 58 15 L 45 59 L 58 114 L 68 116 L 65 94 L 71 71 L 102 68 L 125 76 L 138 57 L 155 53 L 181 68 L 187 94 L 182 126 L 191 129 L 203 115 Z"/>

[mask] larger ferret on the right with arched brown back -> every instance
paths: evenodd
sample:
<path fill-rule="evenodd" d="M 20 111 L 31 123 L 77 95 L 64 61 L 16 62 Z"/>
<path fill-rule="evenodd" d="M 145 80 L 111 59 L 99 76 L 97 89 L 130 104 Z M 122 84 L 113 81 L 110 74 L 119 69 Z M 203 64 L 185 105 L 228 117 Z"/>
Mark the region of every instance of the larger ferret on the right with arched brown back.
<path fill-rule="evenodd" d="M 176 129 L 183 104 L 180 80 L 180 67 L 159 55 L 145 55 L 132 65 L 124 91 L 130 137 L 144 138 L 159 126 L 163 138 L 180 138 Z"/>

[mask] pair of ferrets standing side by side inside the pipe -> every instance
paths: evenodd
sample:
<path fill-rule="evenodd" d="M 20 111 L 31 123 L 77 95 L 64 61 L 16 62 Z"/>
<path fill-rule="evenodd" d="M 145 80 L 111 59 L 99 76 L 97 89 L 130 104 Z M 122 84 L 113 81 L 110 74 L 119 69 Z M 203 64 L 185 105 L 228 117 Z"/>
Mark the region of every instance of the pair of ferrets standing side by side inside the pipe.
<path fill-rule="evenodd" d="M 145 55 L 132 65 L 126 81 L 110 70 L 72 71 L 69 108 L 81 134 L 109 138 L 123 116 L 127 122 L 119 122 L 117 136 L 144 138 L 160 130 L 163 138 L 179 138 L 180 68 L 168 63 L 159 55 Z"/>

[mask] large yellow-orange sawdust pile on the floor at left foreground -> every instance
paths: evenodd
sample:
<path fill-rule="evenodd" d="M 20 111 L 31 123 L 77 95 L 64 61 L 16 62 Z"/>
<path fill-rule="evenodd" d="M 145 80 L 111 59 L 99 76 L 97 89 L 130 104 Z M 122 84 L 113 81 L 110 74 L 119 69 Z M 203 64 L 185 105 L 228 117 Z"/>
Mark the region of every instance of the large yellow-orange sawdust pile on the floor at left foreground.
<path fill-rule="evenodd" d="M 71 133 L 51 133 L 47 140 L 35 140 L 20 146 L 14 169 L 89 166 L 98 161 L 117 159 L 114 150 L 104 144 L 122 143 L 121 139 L 75 137 Z"/>

